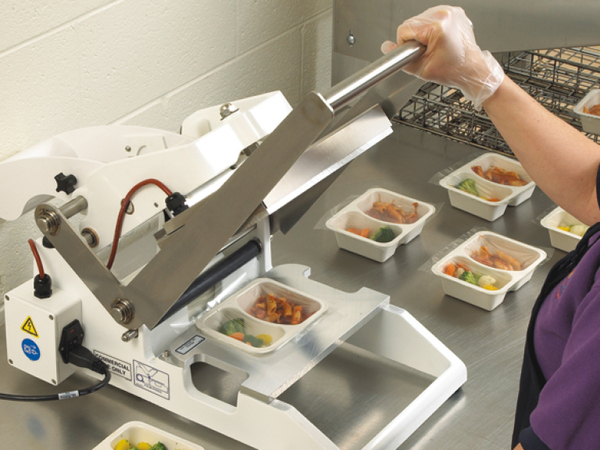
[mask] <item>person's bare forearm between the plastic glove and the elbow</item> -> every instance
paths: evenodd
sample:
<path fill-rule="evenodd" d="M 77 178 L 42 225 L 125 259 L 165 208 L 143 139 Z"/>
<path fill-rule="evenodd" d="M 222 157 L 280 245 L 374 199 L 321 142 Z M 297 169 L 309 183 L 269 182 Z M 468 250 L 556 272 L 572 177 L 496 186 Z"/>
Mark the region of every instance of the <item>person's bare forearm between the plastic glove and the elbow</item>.
<path fill-rule="evenodd" d="M 550 113 L 505 77 L 483 107 L 529 176 L 582 222 L 600 221 L 600 146 Z"/>

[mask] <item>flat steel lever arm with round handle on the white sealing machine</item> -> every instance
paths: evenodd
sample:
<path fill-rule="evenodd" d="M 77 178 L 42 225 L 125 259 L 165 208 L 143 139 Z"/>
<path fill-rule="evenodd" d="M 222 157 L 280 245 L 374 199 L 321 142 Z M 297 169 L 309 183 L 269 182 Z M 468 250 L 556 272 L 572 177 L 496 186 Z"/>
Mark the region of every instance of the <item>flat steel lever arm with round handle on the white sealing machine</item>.
<path fill-rule="evenodd" d="M 85 269 L 74 263 L 77 255 L 69 253 L 73 253 L 73 249 L 83 250 L 81 239 L 70 246 L 69 239 L 42 232 L 107 310 L 117 305 L 128 313 L 127 320 L 121 322 L 124 326 L 131 330 L 142 324 L 153 328 L 302 153 L 321 136 L 336 111 L 348 107 L 370 87 L 398 72 L 423 52 L 420 44 L 404 44 L 323 95 L 310 93 L 304 97 L 217 192 L 178 216 L 182 226 L 164 241 L 158 254 L 126 286 L 106 270 L 100 270 L 97 264 Z M 44 209 L 52 207 L 43 205 L 38 211 Z M 65 223 L 65 227 L 68 226 Z M 76 236 L 76 233 L 70 235 Z M 94 275 L 96 272 L 99 273 Z M 122 314 L 113 314 L 113 317 L 120 316 Z"/>

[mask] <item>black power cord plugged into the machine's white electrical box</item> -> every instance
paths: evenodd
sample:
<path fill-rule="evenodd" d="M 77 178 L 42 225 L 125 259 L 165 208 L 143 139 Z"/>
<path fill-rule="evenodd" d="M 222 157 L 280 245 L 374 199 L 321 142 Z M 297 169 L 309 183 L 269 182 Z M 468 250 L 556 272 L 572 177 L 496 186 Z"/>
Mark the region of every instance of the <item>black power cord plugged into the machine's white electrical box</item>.
<path fill-rule="evenodd" d="M 79 389 L 69 392 L 61 392 L 59 394 L 49 395 L 16 395 L 0 393 L 0 400 L 10 400 L 19 402 L 47 402 L 51 400 L 67 400 L 70 398 L 81 397 L 83 395 L 92 394 L 99 389 L 102 389 L 110 382 L 110 370 L 106 364 L 96 358 L 91 351 L 80 345 L 69 351 L 69 362 L 78 367 L 85 367 L 93 370 L 96 373 L 104 375 L 104 379 L 99 383 L 85 389 Z"/>

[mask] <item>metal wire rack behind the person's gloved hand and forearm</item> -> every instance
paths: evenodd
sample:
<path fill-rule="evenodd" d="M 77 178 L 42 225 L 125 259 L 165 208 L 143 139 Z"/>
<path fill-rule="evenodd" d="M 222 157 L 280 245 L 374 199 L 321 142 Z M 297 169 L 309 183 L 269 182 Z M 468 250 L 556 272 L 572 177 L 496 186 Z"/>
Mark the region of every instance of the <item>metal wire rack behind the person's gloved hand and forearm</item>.
<path fill-rule="evenodd" d="M 600 49 L 594 47 L 507 53 L 505 73 L 549 111 L 581 130 L 573 107 L 600 85 Z M 475 111 L 460 90 L 427 83 L 393 118 L 458 142 L 513 155 L 485 111 Z M 598 142 L 598 136 L 585 133 Z"/>

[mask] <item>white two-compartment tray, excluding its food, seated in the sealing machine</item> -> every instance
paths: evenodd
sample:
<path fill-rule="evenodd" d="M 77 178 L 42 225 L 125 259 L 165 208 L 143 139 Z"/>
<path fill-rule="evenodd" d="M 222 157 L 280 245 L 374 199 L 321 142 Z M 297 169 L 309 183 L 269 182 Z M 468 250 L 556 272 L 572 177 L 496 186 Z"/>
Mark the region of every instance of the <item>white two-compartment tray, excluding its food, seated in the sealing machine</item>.
<path fill-rule="evenodd" d="M 297 325 L 286 325 L 270 323 L 258 319 L 247 312 L 261 295 L 268 294 L 273 294 L 278 298 L 285 297 L 289 302 L 302 306 L 304 312 L 310 316 Z M 208 313 L 199 317 L 196 321 L 196 325 L 207 336 L 210 336 L 219 342 L 223 342 L 247 353 L 260 355 L 273 352 L 290 339 L 298 336 L 323 315 L 326 310 L 327 304 L 318 298 L 300 292 L 275 280 L 257 278 Z M 253 347 L 219 331 L 224 323 L 237 318 L 244 319 L 247 334 L 253 336 L 268 334 L 272 338 L 271 342 L 263 347 Z"/>

